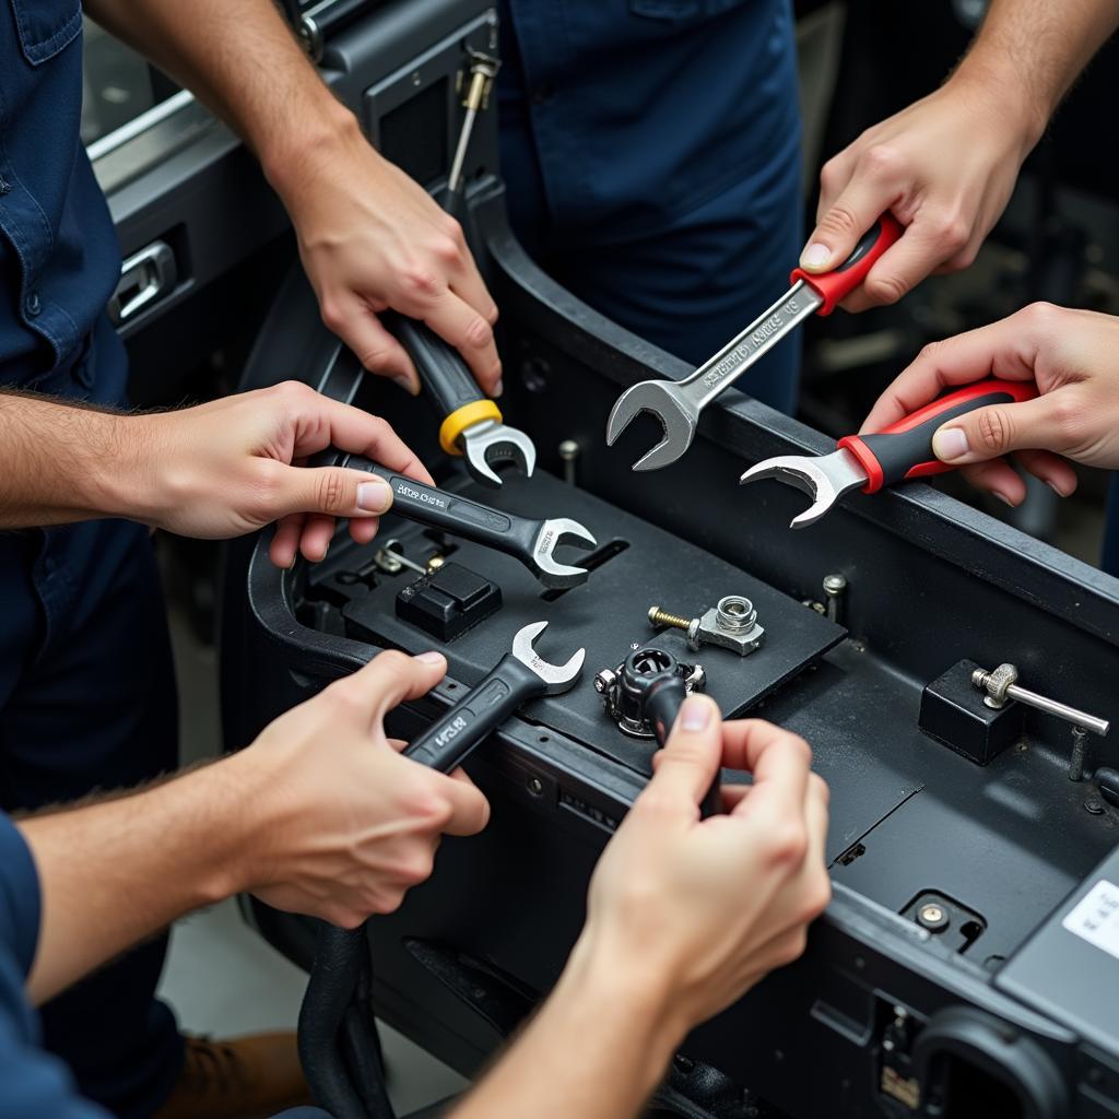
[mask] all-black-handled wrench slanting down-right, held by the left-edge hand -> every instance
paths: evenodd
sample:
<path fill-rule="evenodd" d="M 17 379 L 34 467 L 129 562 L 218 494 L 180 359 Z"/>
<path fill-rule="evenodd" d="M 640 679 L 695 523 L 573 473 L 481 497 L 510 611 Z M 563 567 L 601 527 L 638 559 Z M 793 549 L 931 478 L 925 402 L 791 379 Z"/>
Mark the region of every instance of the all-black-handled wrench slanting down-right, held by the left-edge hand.
<path fill-rule="evenodd" d="M 561 544 L 593 548 L 598 543 L 577 520 L 568 517 L 549 520 L 518 517 L 417 482 L 356 454 L 344 457 L 339 466 L 367 470 L 384 478 L 393 488 L 393 513 L 504 552 L 519 560 L 543 586 L 579 586 L 590 576 L 585 568 L 557 563 L 554 558 L 555 549 Z"/>

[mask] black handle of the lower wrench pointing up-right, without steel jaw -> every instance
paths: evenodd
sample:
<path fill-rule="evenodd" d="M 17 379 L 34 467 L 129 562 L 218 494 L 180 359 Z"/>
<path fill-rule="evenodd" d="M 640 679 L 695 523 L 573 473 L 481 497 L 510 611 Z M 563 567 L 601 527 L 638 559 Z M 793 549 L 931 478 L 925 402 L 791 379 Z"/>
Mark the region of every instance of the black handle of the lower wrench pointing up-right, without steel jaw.
<path fill-rule="evenodd" d="M 450 773 L 523 703 L 543 694 L 543 680 L 507 652 L 478 687 L 408 744 L 404 756 Z"/>

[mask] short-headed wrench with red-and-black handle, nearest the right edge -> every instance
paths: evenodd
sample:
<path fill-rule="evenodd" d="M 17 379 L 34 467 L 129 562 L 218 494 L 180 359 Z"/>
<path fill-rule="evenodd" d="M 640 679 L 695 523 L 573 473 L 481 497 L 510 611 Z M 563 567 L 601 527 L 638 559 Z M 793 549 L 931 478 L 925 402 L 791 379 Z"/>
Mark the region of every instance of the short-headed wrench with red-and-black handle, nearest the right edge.
<path fill-rule="evenodd" d="M 875 493 L 906 478 L 927 478 L 956 468 L 932 453 L 932 436 L 941 424 L 986 407 L 1033 399 L 1037 387 L 1032 380 L 989 378 L 948 393 L 871 435 L 846 435 L 831 454 L 810 458 L 782 454 L 751 467 L 741 482 L 779 478 L 802 489 L 811 499 L 809 508 L 792 518 L 790 528 L 815 524 L 848 490 Z"/>

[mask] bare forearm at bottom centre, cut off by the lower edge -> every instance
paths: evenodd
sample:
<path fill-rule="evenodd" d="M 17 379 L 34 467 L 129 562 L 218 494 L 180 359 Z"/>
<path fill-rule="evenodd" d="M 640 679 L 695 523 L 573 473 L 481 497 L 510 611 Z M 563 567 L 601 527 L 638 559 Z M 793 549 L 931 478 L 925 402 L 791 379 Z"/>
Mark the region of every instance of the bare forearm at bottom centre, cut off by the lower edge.
<path fill-rule="evenodd" d="M 638 985 L 604 966 L 584 938 L 540 1012 L 451 1119 L 637 1116 L 686 1033 L 658 986 L 659 977 Z"/>

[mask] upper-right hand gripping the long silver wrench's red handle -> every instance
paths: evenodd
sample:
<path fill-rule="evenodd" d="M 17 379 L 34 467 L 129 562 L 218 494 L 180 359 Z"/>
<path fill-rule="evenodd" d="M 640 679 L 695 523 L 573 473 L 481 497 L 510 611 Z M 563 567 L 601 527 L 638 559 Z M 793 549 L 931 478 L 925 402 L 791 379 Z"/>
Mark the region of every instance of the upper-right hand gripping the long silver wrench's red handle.
<path fill-rule="evenodd" d="M 1014 111 L 995 111 L 999 103 L 986 85 L 957 76 L 824 164 L 803 269 L 841 264 L 885 210 L 906 227 L 844 300 L 846 310 L 896 302 L 930 273 L 975 260 L 1037 139 Z"/>

